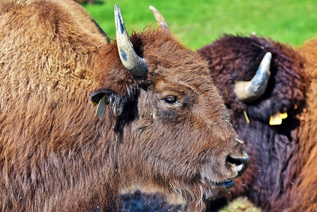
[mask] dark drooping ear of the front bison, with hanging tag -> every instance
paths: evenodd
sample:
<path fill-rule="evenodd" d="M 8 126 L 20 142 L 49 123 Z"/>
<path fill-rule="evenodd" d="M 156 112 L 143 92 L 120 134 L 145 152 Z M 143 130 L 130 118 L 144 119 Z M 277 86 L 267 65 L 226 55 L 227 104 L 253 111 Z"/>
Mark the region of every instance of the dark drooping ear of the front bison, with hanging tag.
<path fill-rule="evenodd" d="M 90 93 L 90 100 L 94 106 L 98 104 L 97 114 L 101 117 L 104 115 L 107 104 L 112 108 L 114 115 L 119 116 L 128 99 L 130 99 L 129 96 L 118 95 L 110 89 L 99 89 Z"/>

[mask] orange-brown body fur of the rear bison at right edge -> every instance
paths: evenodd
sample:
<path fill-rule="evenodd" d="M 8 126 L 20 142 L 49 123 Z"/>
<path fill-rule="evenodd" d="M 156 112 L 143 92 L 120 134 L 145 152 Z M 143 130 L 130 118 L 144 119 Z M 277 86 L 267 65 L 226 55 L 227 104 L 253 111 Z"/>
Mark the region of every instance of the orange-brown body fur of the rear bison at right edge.
<path fill-rule="evenodd" d="M 292 192 L 293 206 L 290 211 L 314 212 L 317 209 L 317 37 L 306 42 L 297 52 L 305 60 L 305 81 L 309 83 L 306 107 L 298 116 L 301 120 L 298 132 L 301 142 L 297 168 L 301 171 L 296 191 L 294 189 Z"/>

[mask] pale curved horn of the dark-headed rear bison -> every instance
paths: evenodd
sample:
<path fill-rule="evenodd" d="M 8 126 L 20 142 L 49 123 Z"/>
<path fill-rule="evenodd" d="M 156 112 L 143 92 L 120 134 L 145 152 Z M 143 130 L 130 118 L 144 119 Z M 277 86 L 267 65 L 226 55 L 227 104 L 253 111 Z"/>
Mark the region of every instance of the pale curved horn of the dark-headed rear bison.
<path fill-rule="evenodd" d="M 239 81 L 234 85 L 234 92 L 237 98 L 244 102 L 258 99 L 264 94 L 268 78 L 270 76 L 270 63 L 272 54 L 267 52 L 262 59 L 260 66 L 250 81 Z"/>

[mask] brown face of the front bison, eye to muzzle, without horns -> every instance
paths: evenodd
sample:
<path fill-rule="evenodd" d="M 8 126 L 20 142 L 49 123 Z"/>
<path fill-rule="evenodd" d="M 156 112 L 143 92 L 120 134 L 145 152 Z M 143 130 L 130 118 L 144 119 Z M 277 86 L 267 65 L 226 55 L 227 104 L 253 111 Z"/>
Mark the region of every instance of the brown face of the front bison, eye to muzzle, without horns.
<path fill-rule="evenodd" d="M 140 82 L 132 104 L 135 119 L 124 131 L 129 143 L 121 147 L 133 161 L 124 172 L 133 173 L 129 179 L 138 182 L 134 189 L 164 190 L 174 203 L 196 207 L 200 200 L 218 198 L 231 189 L 231 179 L 246 170 L 249 159 L 210 84 L 207 64 L 183 48 L 178 49 L 179 57 L 184 55 L 178 64 L 161 65 L 147 47 L 145 58 L 155 66 L 149 66 L 147 80 Z M 192 61 L 185 66 L 188 58 Z"/>

